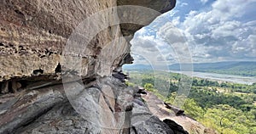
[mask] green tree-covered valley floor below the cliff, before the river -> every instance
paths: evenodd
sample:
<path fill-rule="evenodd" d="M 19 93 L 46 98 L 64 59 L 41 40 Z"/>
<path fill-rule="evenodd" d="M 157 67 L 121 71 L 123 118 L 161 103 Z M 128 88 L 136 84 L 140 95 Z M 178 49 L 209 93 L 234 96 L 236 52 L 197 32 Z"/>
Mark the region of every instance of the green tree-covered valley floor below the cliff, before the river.
<path fill-rule="evenodd" d="M 168 103 L 173 103 L 181 79 L 189 79 L 188 76 L 175 73 L 159 71 L 155 74 L 149 70 L 130 72 L 130 82 L 145 87 Z M 194 78 L 183 109 L 185 114 L 219 133 L 254 134 L 255 104 L 256 83 L 243 85 Z"/>

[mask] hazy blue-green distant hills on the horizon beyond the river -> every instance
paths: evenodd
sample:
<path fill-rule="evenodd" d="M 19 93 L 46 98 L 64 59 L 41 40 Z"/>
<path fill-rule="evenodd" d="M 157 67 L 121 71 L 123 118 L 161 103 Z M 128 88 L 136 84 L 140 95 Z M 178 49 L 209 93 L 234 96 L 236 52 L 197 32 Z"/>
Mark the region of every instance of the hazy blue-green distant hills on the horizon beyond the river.
<path fill-rule="evenodd" d="M 188 65 L 188 64 L 183 64 Z M 256 76 L 256 62 L 250 61 L 228 61 L 216 63 L 193 64 L 194 71 L 212 72 L 228 75 Z M 152 70 L 150 65 L 131 64 L 125 65 L 124 70 Z M 180 70 L 180 64 L 169 65 L 170 70 Z"/>

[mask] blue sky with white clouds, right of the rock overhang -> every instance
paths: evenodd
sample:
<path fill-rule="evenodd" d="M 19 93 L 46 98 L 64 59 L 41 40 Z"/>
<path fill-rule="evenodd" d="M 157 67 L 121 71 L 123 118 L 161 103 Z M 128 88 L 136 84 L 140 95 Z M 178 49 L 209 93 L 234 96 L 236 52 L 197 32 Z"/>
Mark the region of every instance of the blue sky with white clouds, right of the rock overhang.
<path fill-rule="evenodd" d="M 137 31 L 134 64 L 256 61 L 256 0 L 177 0 Z"/>

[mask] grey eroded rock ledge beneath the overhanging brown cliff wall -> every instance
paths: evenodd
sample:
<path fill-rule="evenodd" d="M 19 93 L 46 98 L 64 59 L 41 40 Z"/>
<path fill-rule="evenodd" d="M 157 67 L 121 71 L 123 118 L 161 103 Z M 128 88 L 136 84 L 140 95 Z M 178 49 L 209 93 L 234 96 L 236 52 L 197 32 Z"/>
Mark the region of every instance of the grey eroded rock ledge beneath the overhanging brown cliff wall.
<path fill-rule="evenodd" d="M 0 133 L 173 133 L 136 97 L 137 88 L 113 77 L 100 81 L 103 87 L 90 83 L 69 102 L 61 85 L 9 97 L 1 104 Z"/>

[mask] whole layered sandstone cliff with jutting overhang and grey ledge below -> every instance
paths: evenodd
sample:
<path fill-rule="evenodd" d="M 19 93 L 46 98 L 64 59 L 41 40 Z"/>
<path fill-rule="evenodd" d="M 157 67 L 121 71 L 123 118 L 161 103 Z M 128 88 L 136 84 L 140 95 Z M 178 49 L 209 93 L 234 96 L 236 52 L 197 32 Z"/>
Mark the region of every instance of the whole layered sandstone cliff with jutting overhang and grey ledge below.
<path fill-rule="evenodd" d="M 2 0 L 0 133 L 177 133 L 168 126 L 175 123 L 165 123 L 152 115 L 143 99 L 137 97 L 137 89 L 112 76 L 122 64 L 132 63 L 129 40 L 143 25 L 112 25 L 90 41 L 81 70 L 86 72 L 82 75 L 83 90 L 91 94 L 86 98 L 86 93 L 81 92 L 78 98 L 93 103 L 81 108 L 93 110 L 85 113 L 93 122 L 73 109 L 61 81 L 61 52 L 84 19 L 119 5 L 138 5 L 165 13 L 175 3 L 176 0 Z M 145 15 L 145 23 L 156 17 L 150 16 L 149 21 Z M 128 37 L 106 46 L 119 36 Z M 105 52 L 101 52 L 102 47 Z"/>

